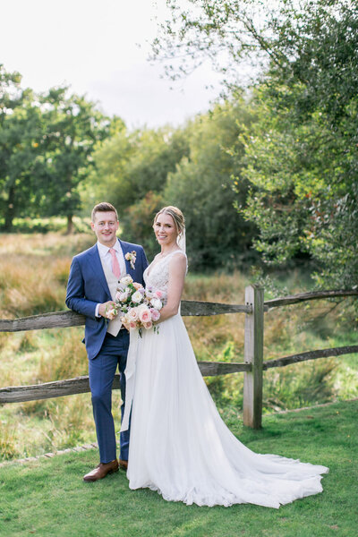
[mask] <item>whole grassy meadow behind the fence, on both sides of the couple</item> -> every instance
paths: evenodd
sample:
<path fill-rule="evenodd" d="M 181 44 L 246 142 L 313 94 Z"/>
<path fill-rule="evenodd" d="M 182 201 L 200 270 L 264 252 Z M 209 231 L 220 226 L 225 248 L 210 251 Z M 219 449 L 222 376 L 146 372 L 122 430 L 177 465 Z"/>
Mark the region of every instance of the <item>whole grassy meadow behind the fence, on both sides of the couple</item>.
<path fill-rule="evenodd" d="M 0 318 L 62 311 L 72 255 L 94 243 L 86 233 L 0 235 Z M 191 274 L 184 298 L 243 303 L 252 277 L 240 272 Z M 274 278 L 265 299 L 310 289 L 303 271 Z M 198 360 L 243 362 L 243 315 L 185 318 Z M 83 328 L 0 333 L 0 387 L 36 384 L 87 374 Z M 353 302 L 316 301 L 269 311 L 264 359 L 356 343 Z M 207 378 L 218 408 L 241 421 L 243 374 Z M 358 356 L 321 359 L 264 373 L 264 412 L 358 396 Z M 114 392 L 119 428 L 120 396 Z M 231 416 L 231 417 L 230 417 Z M 227 418 L 228 419 L 228 418 Z M 35 456 L 95 441 L 90 394 L 0 407 L 0 460 Z"/>

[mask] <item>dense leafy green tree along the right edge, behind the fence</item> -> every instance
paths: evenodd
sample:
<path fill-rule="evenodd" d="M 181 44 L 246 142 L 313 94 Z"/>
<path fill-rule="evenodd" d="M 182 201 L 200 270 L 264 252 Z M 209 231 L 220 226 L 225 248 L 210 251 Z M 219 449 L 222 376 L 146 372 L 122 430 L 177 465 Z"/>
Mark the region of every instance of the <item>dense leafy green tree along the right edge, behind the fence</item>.
<path fill-rule="evenodd" d="M 272 67 L 256 94 L 245 214 L 266 260 L 306 251 L 321 285 L 350 287 L 358 284 L 358 7 L 315 5 L 291 62 Z"/>

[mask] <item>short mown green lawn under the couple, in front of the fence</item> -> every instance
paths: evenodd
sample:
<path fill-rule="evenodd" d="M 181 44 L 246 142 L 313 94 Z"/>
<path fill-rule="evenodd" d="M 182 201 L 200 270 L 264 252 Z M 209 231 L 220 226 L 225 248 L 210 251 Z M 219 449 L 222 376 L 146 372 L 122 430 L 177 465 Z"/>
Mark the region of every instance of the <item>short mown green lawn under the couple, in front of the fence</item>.
<path fill-rule="evenodd" d="M 197 507 L 166 502 L 150 490 L 129 490 L 124 472 L 96 483 L 82 476 L 96 450 L 0 467 L 0 535 L 44 537 L 354 537 L 358 534 L 358 401 L 264 417 L 243 428 L 232 409 L 224 418 L 252 450 L 328 465 L 322 494 L 280 509 Z M 355 492 L 354 492 L 355 491 Z"/>

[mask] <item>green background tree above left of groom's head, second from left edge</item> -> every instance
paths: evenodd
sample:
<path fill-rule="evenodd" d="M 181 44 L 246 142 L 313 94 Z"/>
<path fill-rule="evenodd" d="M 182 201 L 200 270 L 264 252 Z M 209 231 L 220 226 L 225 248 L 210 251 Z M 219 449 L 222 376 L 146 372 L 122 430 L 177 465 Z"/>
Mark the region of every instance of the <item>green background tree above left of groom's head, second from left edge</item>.
<path fill-rule="evenodd" d="M 110 133 L 110 122 L 94 103 L 68 88 L 49 90 L 42 96 L 47 125 L 46 199 L 42 204 L 48 216 L 67 217 L 67 232 L 72 231 L 72 216 L 81 208 L 80 184 L 94 165 L 92 153 Z"/>

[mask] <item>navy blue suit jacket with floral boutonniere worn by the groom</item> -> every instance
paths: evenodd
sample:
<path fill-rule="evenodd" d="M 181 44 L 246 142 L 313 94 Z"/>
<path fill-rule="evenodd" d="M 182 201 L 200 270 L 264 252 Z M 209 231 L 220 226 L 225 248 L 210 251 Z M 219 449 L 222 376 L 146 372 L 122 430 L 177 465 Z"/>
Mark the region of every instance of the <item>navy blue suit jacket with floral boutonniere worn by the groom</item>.
<path fill-rule="evenodd" d="M 127 274 L 135 282 L 144 284 L 143 272 L 148 267 L 144 250 L 138 244 L 121 244 L 124 256 L 128 251 L 136 251 L 137 257 L 134 268 L 125 260 Z M 85 343 L 90 360 L 98 355 L 107 332 L 107 322 L 104 317 L 96 318 L 95 311 L 98 303 L 112 300 L 107 279 L 99 258 L 98 246 L 95 244 L 89 250 L 82 251 L 72 260 L 70 276 L 67 284 L 66 305 L 70 310 L 86 316 Z"/>

